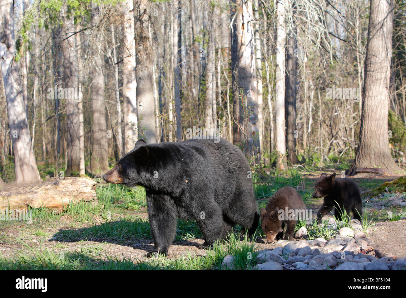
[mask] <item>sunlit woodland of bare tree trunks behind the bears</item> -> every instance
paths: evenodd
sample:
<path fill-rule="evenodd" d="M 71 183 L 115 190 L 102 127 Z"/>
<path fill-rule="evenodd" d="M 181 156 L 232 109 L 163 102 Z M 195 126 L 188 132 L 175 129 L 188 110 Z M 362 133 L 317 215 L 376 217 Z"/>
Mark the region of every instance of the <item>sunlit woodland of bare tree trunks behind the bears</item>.
<path fill-rule="evenodd" d="M 404 0 L 3 0 L 0 173 L 99 176 L 217 132 L 254 168 L 399 172 Z"/>

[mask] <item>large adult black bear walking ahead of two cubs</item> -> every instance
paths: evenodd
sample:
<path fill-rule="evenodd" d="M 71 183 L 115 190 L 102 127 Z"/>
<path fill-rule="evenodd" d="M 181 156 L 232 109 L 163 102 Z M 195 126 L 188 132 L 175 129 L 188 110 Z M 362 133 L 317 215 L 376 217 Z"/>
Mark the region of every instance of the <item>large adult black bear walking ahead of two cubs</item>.
<path fill-rule="evenodd" d="M 138 140 L 103 178 L 145 187 L 154 252 L 167 255 L 177 218 L 197 221 L 203 247 L 227 237 L 236 224 L 253 234 L 259 214 L 250 172 L 241 150 L 225 139 L 149 145 Z"/>

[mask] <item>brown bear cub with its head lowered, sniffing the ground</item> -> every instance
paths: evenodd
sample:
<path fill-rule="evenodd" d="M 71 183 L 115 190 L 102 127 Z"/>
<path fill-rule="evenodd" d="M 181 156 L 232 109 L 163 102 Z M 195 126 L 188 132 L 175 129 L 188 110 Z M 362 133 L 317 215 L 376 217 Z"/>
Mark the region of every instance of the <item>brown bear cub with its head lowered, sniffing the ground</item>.
<path fill-rule="evenodd" d="M 295 231 L 296 215 L 304 215 L 305 212 L 306 206 L 296 189 L 285 186 L 276 191 L 266 207 L 261 209 L 261 228 L 267 242 L 272 242 L 275 237 L 282 238 L 285 224 L 285 240 L 291 240 Z M 302 217 L 304 219 L 304 216 Z"/>

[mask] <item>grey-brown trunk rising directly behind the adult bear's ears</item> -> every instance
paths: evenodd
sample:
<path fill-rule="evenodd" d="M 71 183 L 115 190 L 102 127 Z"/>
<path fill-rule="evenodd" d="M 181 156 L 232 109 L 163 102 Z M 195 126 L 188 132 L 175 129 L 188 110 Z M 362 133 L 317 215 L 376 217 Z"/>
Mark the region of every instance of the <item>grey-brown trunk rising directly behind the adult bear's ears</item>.
<path fill-rule="evenodd" d="M 156 143 L 155 110 L 153 94 L 153 52 L 149 40 L 148 24 L 149 1 L 136 1 L 135 13 L 135 48 L 136 48 L 136 79 L 137 79 L 137 112 L 138 134 L 142 135 L 147 144 Z"/>

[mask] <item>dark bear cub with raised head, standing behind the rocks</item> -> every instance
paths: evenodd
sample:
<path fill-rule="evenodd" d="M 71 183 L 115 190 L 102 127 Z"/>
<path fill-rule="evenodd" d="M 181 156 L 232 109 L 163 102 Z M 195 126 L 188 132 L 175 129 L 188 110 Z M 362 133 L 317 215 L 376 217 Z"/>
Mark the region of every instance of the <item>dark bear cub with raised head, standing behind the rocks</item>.
<path fill-rule="evenodd" d="M 322 217 L 334 208 L 335 218 L 342 220 L 342 212 L 345 210 L 348 217 L 350 212 L 355 219 L 361 221 L 362 203 L 361 195 L 356 183 L 348 178 L 335 178 L 335 173 L 327 176 L 321 174 L 317 180 L 313 193 L 314 198 L 324 197 L 322 207 L 317 211 L 317 221 L 322 222 Z"/>

